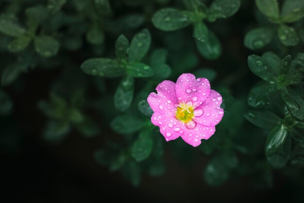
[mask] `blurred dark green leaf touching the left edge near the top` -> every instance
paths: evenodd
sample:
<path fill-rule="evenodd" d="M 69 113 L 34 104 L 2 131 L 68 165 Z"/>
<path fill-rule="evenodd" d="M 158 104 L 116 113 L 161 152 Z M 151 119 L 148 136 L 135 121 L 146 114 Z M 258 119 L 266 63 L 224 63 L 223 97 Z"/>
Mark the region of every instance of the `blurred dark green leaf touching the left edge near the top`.
<path fill-rule="evenodd" d="M 11 37 L 22 37 L 27 33 L 27 30 L 19 26 L 12 18 L 1 16 L 0 32 Z"/>

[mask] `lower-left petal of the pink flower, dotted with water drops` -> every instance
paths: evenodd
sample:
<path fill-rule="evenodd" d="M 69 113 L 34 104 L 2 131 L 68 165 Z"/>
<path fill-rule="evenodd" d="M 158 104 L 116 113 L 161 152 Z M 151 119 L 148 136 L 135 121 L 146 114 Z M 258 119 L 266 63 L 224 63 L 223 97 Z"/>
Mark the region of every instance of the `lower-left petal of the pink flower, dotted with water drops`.
<path fill-rule="evenodd" d="M 151 117 L 152 124 L 159 126 L 159 131 L 164 135 L 166 141 L 175 140 L 184 132 L 185 124 L 174 116 L 168 116 L 163 112 L 156 111 Z"/>

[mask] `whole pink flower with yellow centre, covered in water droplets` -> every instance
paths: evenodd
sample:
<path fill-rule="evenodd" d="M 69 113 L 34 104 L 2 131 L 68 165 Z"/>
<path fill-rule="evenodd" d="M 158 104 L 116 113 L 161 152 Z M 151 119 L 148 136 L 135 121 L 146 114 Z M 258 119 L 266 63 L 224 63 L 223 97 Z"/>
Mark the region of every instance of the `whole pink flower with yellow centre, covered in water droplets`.
<path fill-rule="evenodd" d="M 220 108 L 222 97 L 210 90 L 209 80 L 182 74 L 176 83 L 164 80 L 156 91 L 157 94 L 152 92 L 148 96 L 154 111 L 151 121 L 159 126 L 166 141 L 181 136 L 186 143 L 197 147 L 201 139 L 207 140 L 214 134 L 224 111 Z"/>

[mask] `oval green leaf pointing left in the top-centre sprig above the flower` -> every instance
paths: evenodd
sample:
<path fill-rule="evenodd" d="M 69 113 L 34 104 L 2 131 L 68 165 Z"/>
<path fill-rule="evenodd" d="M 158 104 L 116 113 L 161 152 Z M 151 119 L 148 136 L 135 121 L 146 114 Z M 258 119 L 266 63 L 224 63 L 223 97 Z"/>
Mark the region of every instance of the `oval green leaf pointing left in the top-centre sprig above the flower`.
<path fill-rule="evenodd" d="M 165 8 L 157 11 L 152 17 L 153 25 L 163 31 L 179 30 L 190 24 L 182 12 L 174 8 Z"/>

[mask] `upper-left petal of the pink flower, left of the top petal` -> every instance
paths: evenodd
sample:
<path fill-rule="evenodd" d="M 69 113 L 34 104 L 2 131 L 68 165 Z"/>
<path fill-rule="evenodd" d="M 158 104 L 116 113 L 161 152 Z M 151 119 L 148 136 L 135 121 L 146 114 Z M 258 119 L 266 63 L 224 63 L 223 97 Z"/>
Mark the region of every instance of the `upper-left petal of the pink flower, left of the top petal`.
<path fill-rule="evenodd" d="M 154 112 L 160 111 L 163 114 L 176 114 L 176 107 L 178 105 L 175 94 L 175 83 L 169 80 L 164 80 L 156 87 L 157 94 L 152 92 L 148 96 L 148 103 Z M 175 105 L 175 106 L 174 106 Z"/>

